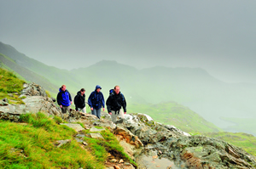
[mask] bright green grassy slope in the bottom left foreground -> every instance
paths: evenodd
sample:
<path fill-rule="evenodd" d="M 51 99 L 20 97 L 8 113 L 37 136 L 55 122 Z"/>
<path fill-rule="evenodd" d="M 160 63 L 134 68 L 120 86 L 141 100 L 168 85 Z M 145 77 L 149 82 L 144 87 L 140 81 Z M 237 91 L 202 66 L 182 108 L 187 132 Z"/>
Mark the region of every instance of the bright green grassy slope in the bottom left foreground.
<path fill-rule="evenodd" d="M 42 113 L 24 115 L 20 121 L 0 121 L 0 168 L 104 168 L 90 151 L 73 139 L 76 133 Z M 55 147 L 55 141 L 72 139 Z"/>

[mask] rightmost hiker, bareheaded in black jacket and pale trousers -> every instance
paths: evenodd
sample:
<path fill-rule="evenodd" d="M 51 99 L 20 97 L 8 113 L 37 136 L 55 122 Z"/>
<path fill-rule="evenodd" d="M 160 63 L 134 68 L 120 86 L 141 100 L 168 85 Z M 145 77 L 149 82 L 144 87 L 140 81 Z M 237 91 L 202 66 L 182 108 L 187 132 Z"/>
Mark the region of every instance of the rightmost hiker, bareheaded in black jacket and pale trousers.
<path fill-rule="evenodd" d="M 108 114 L 111 115 L 111 120 L 113 121 L 113 123 L 122 123 L 125 118 L 124 112 L 126 114 L 125 96 L 120 92 L 119 86 L 115 86 L 112 90 L 109 91 L 110 94 L 106 103 Z M 121 107 L 123 107 L 124 111 L 121 109 Z M 119 121 L 116 120 L 118 115 L 121 116 L 121 119 Z"/>

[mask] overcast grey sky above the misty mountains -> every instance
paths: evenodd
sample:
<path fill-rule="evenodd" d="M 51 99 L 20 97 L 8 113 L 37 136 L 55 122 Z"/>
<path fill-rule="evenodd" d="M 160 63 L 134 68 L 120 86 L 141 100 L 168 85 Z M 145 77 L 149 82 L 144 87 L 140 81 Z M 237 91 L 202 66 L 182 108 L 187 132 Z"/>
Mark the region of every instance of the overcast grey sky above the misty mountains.
<path fill-rule="evenodd" d="M 67 70 L 107 59 L 256 83 L 255 40 L 255 0 L 0 0 L 0 42 Z"/>

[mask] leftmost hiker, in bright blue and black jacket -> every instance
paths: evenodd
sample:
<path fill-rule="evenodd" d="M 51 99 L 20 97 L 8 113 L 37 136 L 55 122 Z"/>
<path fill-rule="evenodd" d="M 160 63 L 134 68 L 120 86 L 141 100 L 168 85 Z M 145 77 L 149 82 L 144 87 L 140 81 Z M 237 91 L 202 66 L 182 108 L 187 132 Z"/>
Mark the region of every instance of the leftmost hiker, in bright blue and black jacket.
<path fill-rule="evenodd" d="M 72 104 L 72 98 L 70 93 L 66 89 L 66 85 L 62 85 L 57 95 L 57 102 L 61 107 L 61 113 L 66 114 L 67 110 L 70 112 L 70 105 Z"/>

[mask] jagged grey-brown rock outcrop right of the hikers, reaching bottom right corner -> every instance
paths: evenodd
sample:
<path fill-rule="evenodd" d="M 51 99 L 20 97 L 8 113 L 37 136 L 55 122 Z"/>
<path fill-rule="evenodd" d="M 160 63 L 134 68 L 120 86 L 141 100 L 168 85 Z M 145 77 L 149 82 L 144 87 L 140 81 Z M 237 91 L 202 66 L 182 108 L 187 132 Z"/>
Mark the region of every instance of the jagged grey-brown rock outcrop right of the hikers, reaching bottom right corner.
<path fill-rule="evenodd" d="M 110 120 L 108 115 L 104 118 Z M 147 168 L 148 162 L 154 161 L 154 158 L 160 165 L 169 168 L 256 167 L 255 157 L 243 149 L 215 138 L 190 136 L 176 127 L 148 119 L 148 115 L 125 115 L 125 121 L 118 124 L 113 133 L 125 152 L 137 161 L 139 168 Z M 148 156 L 152 159 L 145 161 Z M 172 164 L 172 167 L 167 164 Z M 151 165 L 154 166 L 154 163 Z"/>

